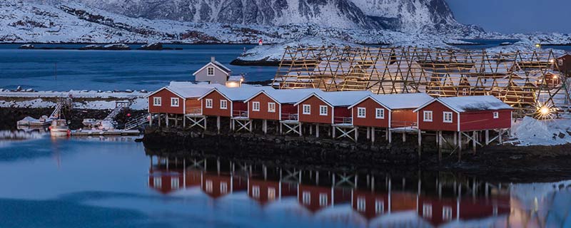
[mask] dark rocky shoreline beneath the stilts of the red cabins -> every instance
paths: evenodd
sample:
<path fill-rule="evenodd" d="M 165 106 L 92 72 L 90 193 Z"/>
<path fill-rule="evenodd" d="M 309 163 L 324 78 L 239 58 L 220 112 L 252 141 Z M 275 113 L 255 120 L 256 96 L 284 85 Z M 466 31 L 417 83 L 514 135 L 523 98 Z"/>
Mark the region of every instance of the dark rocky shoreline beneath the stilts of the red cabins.
<path fill-rule="evenodd" d="M 433 136 L 434 137 L 434 136 Z M 271 161 L 302 167 L 349 170 L 415 170 L 463 172 L 498 181 L 548 181 L 571 177 L 571 145 L 517 147 L 492 145 L 475 154 L 445 152 L 438 162 L 435 140 L 423 140 L 418 157 L 415 140 L 392 145 L 355 143 L 313 137 L 251 133 L 216 135 L 180 129 L 147 128 L 141 140 L 148 152 L 163 156 L 221 156 L 250 162 Z"/>

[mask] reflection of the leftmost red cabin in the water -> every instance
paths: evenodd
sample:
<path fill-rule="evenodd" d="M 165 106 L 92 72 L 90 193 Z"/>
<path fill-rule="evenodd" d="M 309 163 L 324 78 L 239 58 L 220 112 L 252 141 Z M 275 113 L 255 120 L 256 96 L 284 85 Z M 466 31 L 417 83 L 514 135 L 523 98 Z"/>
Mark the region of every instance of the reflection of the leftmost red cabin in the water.
<path fill-rule="evenodd" d="M 201 184 L 201 172 L 196 170 L 164 170 L 152 168 L 148 171 L 148 186 L 163 194 L 170 194 Z"/>

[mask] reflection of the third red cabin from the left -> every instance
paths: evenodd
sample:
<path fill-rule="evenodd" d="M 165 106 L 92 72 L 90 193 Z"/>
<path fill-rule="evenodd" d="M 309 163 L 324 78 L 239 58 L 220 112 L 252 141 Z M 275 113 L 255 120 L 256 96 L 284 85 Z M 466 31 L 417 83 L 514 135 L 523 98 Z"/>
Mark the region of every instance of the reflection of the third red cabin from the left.
<path fill-rule="evenodd" d="M 268 180 L 248 180 L 248 197 L 256 200 L 260 204 L 273 202 L 281 197 L 295 196 L 297 191 L 290 183 L 268 181 Z"/>

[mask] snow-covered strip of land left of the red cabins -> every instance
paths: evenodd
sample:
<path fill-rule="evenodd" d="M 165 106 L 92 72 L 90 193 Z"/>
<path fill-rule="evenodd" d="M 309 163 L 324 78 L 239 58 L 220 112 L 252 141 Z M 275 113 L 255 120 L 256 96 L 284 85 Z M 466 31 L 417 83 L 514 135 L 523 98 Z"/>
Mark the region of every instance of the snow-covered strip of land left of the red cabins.
<path fill-rule="evenodd" d="M 147 91 L 93 91 L 70 90 L 67 92 L 37 91 L 21 92 L 0 90 L 1 108 L 54 108 L 59 98 L 73 98 L 74 108 L 113 109 L 116 102 L 131 102 L 131 109 L 148 107 Z"/>

